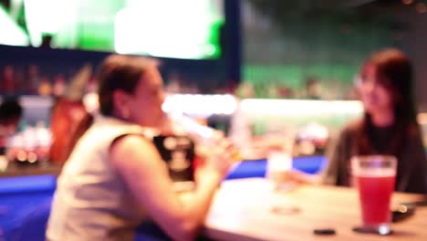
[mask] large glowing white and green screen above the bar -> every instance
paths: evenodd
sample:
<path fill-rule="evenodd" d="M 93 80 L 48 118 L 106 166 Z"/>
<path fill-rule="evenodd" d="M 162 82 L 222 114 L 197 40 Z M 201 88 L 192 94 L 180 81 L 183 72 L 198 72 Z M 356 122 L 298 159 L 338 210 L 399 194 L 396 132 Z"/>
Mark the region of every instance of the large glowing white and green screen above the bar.
<path fill-rule="evenodd" d="M 223 1 L 1 0 L 0 44 L 220 58 Z"/>

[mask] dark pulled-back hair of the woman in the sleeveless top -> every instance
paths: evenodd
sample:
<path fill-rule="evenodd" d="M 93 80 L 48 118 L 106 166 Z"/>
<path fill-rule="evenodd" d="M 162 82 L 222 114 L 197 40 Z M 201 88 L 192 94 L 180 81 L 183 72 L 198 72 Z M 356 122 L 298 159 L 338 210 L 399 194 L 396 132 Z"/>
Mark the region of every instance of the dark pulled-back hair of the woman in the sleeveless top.
<path fill-rule="evenodd" d="M 122 55 L 111 55 L 99 67 L 99 110 L 106 116 L 113 111 L 112 94 L 120 89 L 133 93 L 145 70 L 157 62 L 151 58 L 137 58 Z"/>

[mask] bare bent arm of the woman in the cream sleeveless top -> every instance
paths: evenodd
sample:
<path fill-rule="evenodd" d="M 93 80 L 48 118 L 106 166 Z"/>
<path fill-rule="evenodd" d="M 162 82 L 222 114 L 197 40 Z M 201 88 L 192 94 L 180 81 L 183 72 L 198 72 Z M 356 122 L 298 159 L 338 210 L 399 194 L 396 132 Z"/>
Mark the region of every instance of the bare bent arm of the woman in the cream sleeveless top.
<path fill-rule="evenodd" d="M 215 160 L 216 166 L 203 165 L 196 176 L 193 195 L 182 202 L 150 141 L 137 135 L 125 136 L 112 144 L 109 156 L 141 206 L 174 240 L 193 240 L 197 235 L 214 191 L 228 169 L 227 160 L 221 158 Z"/>

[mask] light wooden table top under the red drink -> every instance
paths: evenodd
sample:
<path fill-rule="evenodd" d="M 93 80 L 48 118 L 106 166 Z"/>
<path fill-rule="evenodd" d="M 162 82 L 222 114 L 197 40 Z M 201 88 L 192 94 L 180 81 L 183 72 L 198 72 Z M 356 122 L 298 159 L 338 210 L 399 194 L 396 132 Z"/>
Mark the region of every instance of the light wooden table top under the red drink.
<path fill-rule="evenodd" d="M 392 204 L 422 199 L 395 193 Z M 352 231 L 361 222 L 357 190 L 334 186 L 298 186 L 274 192 L 262 178 L 226 181 L 215 195 L 205 234 L 215 240 L 427 240 L 427 206 L 391 225 L 390 236 Z M 333 228 L 336 235 L 314 235 Z"/>

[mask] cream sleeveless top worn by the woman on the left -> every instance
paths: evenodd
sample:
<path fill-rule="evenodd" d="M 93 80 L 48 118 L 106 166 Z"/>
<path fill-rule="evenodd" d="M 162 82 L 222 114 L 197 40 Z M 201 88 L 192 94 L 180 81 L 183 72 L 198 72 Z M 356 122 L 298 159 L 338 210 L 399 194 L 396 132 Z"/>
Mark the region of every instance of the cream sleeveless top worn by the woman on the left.
<path fill-rule="evenodd" d="M 143 131 L 125 121 L 95 119 L 58 177 L 47 240 L 134 239 L 134 229 L 146 215 L 112 167 L 108 152 L 117 137 Z"/>

